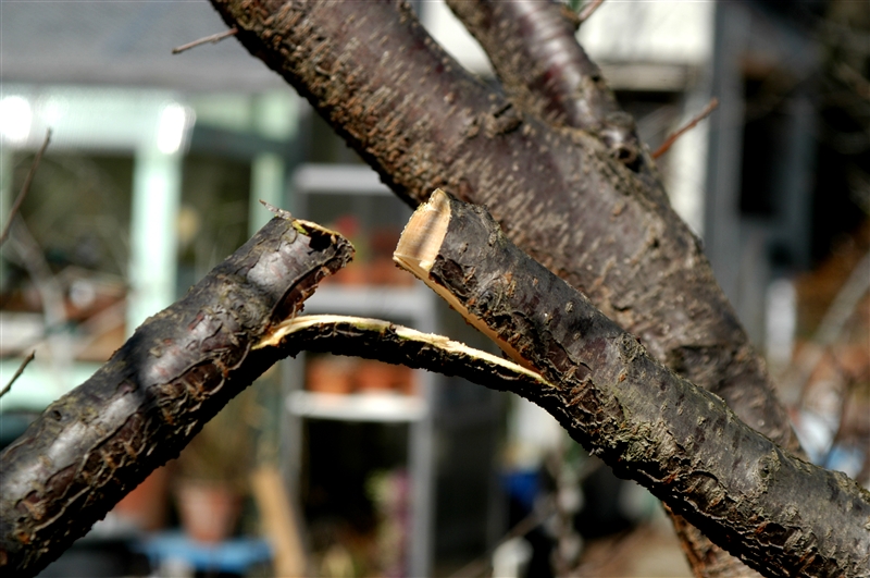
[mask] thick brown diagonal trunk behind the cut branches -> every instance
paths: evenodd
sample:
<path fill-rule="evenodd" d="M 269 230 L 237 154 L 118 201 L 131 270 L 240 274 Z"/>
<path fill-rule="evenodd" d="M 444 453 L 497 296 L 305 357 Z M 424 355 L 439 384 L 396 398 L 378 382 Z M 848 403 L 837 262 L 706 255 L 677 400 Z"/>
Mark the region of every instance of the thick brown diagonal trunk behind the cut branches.
<path fill-rule="evenodd" d="M 488 207 L 512 242 L 656 358 L 796 447 L 763 362 L 699 239 L 657 200 L 660 185 L 612 159 L 598 138 L 521 114 L 402 3 L 212 3 L 401 198 L 417 205 L 440 186 Z"/>

